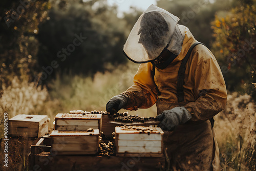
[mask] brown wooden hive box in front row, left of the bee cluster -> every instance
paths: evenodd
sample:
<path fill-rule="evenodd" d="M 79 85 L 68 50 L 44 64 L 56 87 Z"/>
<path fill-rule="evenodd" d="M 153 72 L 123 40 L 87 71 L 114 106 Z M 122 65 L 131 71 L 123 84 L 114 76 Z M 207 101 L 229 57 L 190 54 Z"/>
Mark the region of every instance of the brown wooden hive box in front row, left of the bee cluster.
<path fill-rule="evenodd" d="M 99 146 L 99 130 L 57 131 L 51 133 L 52 153 L 54 155 L 96 154 Z"/>

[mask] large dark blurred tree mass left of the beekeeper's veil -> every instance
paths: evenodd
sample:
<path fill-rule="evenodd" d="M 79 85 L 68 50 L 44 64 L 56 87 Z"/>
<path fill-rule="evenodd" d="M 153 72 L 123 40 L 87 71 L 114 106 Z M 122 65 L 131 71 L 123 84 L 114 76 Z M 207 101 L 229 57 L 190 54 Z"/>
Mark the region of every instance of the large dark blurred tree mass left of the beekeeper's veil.
<path fill-rule="evenodd" d="M 56 72 L 70 71 L 73 74 L 90 75 L 105 71 L 108 63 L 117 65 L 127 61 L 122 54 L 126 23 L 117 18 L 116 7 L 109 7 L 105 0 L 60 2 L 53 2 L 48 20 L 39 26 L 40 66 L 51 66 L 53 60 L 59 64 L 49 77 Z M 75 34 L 86 39 L 70 51 L 69 46 L 74 44 Z M 68 53 L 65 54 L 62 48 L 67 49 Z"/>

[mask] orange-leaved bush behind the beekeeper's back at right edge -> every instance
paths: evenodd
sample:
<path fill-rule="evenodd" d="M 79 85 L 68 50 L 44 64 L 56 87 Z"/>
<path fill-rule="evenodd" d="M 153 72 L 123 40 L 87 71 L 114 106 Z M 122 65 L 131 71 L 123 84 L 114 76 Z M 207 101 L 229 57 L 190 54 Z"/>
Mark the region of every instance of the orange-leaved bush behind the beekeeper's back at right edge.
<path fill-rule="evenodd" d="M 212 52 L 218 59 L 230 91 L 253 93 L 255 82 L 255 5 L 241 5 L 228 13 L 218 13 L 212 22 L 216 40 Z"/>

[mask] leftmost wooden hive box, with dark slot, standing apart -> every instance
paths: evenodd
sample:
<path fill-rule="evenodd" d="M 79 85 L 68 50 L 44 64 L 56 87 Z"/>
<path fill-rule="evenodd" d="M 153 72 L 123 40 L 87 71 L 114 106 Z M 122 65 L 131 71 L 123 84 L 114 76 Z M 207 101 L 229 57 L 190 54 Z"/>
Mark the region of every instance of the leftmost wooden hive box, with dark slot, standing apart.
<path fill-rule="evenodd" d="M 47 115 L 16 115 L 9 119 L 10 136 L 41 137 L 48 134 Z"/>

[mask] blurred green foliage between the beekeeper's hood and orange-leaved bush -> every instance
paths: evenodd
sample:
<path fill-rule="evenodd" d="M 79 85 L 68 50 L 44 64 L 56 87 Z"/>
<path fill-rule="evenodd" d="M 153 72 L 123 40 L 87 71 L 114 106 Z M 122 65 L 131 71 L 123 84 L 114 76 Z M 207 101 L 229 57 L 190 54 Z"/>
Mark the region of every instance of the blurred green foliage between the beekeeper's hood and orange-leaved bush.
<path fill-rule="evenodd" d="M 203 42 L 207 47 L 213 39 L 210 22 L 214 20 L 215 13 L 221 10 L 228 10 L 232 1 L 211 1 L 204 0 L 159 0 L 157 5 L 180 18 L 180 25 L 188 27 L 194 37 Z"/>

